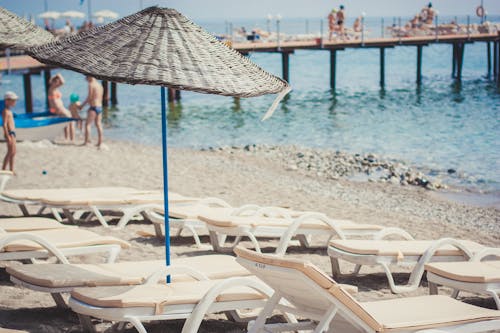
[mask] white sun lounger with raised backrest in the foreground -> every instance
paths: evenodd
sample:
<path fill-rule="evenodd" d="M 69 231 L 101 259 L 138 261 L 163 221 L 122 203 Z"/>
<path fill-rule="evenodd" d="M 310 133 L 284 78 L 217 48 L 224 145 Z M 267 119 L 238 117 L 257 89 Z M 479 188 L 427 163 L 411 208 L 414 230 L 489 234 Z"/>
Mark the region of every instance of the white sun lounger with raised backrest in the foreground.
<path fill-rule="evenodd" d="M 473 333 L 500 327 L 500 311 L 446 296 L 419 296 L 357 302 L 310 263 L 235 249 L 238 262 L 274 289 L 249 333 L 314 330 L 320 332 Z M 283 300 L 288 305 L 283 305 Z M 266 324 L 274 310 L 309 321 Z M 347 329 L 339 328 L 345 325 Z"/>

